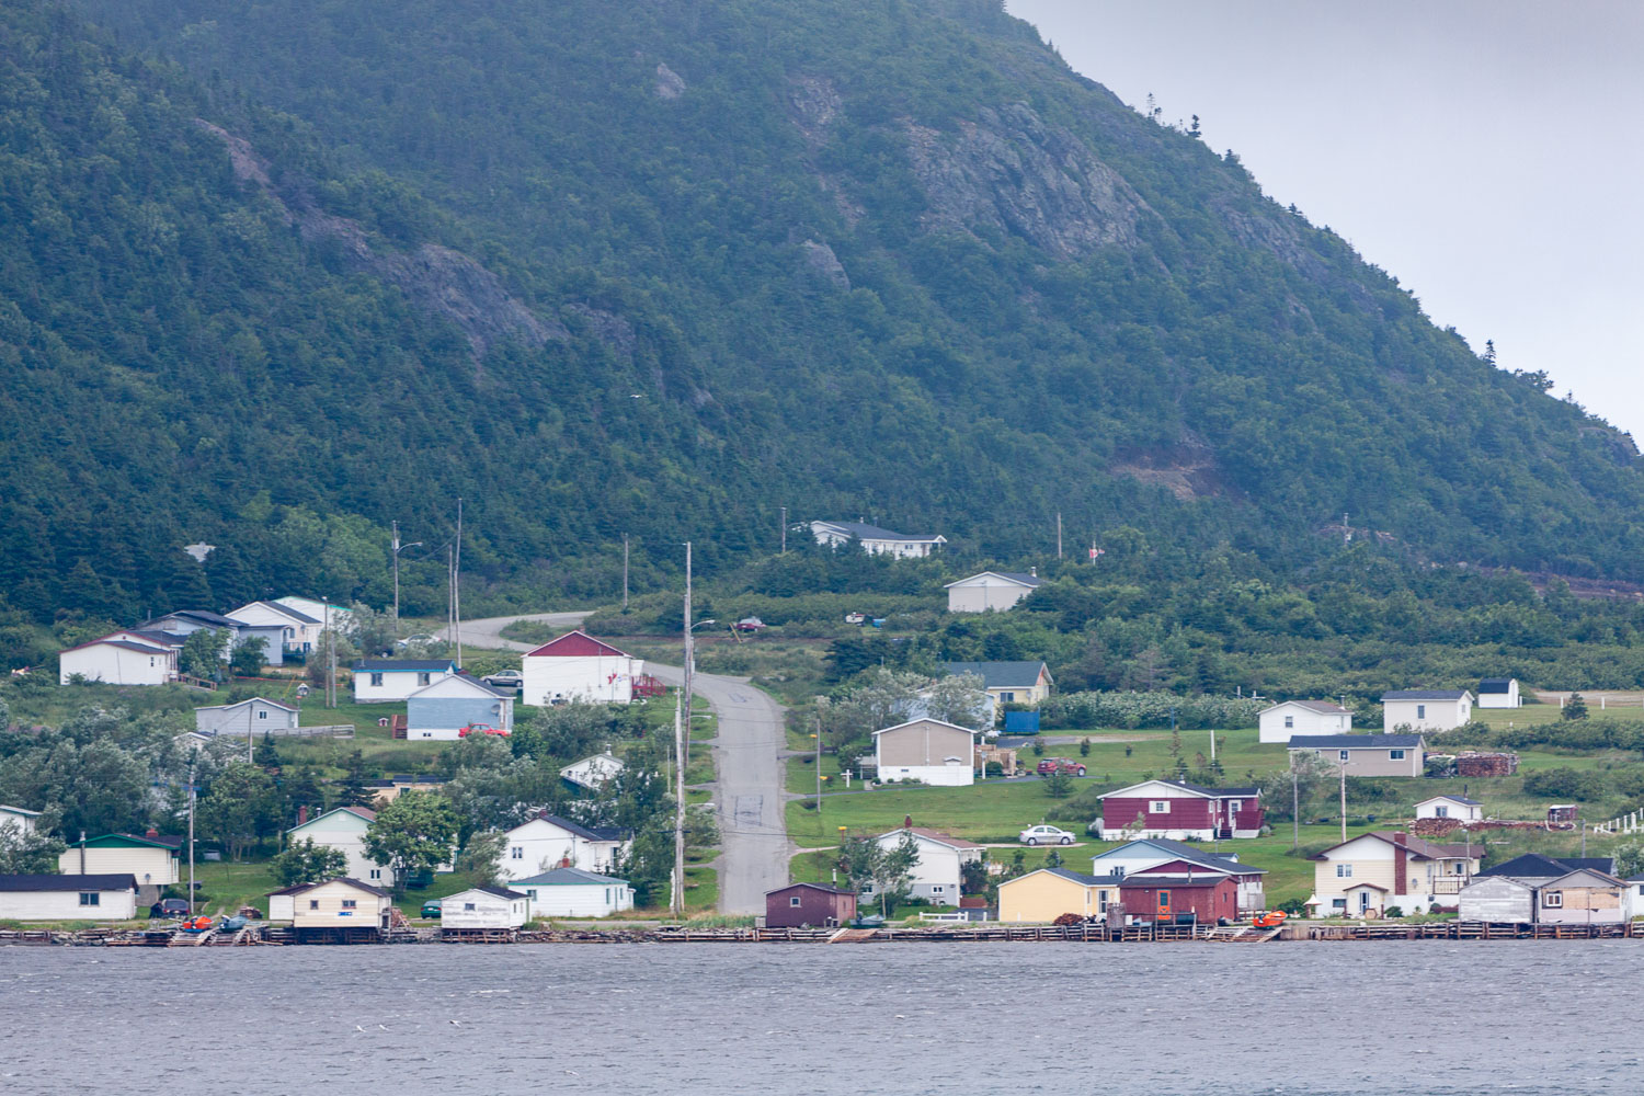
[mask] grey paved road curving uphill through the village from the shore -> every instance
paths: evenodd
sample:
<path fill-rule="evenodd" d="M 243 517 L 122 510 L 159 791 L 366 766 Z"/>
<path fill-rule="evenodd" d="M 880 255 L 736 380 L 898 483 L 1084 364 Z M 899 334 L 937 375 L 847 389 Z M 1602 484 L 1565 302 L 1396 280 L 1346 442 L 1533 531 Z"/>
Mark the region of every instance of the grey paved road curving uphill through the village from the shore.
<path fill-rule="evenodd" d="M 516 619 L 575 628 L 587 613 L 534 613 L 462 621 L 462 642 L 473 647 L 529 651 L 531 644 L 503 639 L 501 629 Z M 651 674 L 669 685 L 684 680 L 677 665 L 649 664 Z M 713 797 L 723 833 L 720 853 L 720 912 L 763 914 L 764 892 L 787 884 L 787 823 L 783 815 L 783 762 L 786 736 L 783 707 L 740 677 L 697 674 L 692 688 L 718 715 Z"/>

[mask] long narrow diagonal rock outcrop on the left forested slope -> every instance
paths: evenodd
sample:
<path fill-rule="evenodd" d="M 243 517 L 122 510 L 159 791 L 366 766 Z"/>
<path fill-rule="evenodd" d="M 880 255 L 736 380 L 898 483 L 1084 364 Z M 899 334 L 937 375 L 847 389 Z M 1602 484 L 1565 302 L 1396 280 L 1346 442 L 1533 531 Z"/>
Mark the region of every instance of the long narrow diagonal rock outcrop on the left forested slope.
<path fill-rule="evenodd" d="M 324 212 L 294 182 L 276 186 L 268 174 L 268 161 L 245 138 L 202 118 L 196 122 L 227 146 L 235 177 L 266 194 L 279 217 L 296 225 L 306 242 L 334 242 L 350 266 L 381 278 L 418 307 L 455 324 L 475 360 L 498 342 L 541 347 L 569 338 L 570 332 L 562 324 L 544 320 L 515 301 L 496 274 L 462 251 L 439 243 L 423 243 L 413 251 L 378 251 L 357 220 Z"/>

